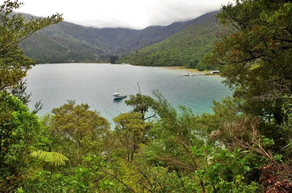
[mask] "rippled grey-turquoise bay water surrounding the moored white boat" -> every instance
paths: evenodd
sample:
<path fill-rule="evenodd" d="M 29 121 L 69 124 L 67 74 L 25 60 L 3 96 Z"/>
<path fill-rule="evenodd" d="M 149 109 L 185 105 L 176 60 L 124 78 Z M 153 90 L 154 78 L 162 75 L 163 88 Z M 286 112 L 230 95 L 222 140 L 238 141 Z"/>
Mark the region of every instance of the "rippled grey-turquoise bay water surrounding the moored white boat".
<path fill-rule="evenodd" d="M 151 96 L 152 89 L 159 89 L 176 108 L 185 105 L 199 114 L 211 113 L 213 100 L 220 101 L 232 94 L 221 83 L 220 76 L 175 76 L 185 73 L 189 72 L 119 64 L 40 64 L 27 72 L 27 93 L 32 92 L 29 108 L 41 100 L 44 103 L 38 113 L 41 116 L 75 99 L 100 111 L 114 127 L 112 119 L 131 107 L 124 103 L 126 98 L 112 100 L 113 93 L 119 88 L 127 94 L 136 94 L 137 82 L 142 94 Z"/>

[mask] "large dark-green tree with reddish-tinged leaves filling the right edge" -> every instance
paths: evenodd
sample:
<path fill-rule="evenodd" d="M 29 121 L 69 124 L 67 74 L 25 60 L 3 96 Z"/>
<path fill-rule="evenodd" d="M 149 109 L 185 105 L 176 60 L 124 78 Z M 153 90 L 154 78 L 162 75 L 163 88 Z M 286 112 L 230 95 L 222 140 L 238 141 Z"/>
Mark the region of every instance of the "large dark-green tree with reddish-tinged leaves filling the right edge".
<path fill-rule="evenodd" d="M 283 121 L 284 94 L 292 90 L 290 1 L 239 1 L 218 13 L 220 41 L 203 59 L 215 65 L 249 115 Z"/>

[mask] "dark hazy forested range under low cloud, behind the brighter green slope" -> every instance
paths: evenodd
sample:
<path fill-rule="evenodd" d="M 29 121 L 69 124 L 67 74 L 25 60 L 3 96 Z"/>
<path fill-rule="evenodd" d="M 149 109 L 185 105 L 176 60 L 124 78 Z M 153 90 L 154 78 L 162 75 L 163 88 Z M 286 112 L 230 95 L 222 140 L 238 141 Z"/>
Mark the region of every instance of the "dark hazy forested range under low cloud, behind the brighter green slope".
<path fill-rule="evenodd" d="M 97 62 L 110 55 L 125 55 L 158 43 L 192 24 L 215 17 L 218 11 L 206 13 L 194 20 L 175 22 L 168 26 L 150 26 L 142 30 L 126 28 L 93 28 L 60 22 L 36 32 L 19 46 L 25 55 L 37 63 Z M 22 14 L 29 19 L 31 15 Z M 95 60 L 98 58 L 98 60 Z"/>

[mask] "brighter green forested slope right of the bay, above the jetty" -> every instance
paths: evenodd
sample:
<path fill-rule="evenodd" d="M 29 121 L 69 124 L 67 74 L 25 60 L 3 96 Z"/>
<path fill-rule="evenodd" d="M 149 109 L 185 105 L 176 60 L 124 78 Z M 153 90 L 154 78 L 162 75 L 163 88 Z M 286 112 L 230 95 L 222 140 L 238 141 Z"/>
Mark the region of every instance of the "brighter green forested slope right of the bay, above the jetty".
<path fill-rule="evenodd" d="M 216 18 L 193 24 L 164 41 L 142 48 L 117 62 L 143 66 L 185 66 L 200 61 L 215 41 L 211 34 L 219 27 Z"/>

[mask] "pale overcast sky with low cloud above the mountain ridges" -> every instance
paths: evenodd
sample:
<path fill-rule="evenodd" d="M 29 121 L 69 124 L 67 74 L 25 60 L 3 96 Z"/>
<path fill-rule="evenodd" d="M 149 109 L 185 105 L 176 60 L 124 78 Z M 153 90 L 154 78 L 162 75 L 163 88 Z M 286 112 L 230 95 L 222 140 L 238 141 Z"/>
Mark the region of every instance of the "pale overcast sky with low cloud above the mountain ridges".
<path fill-rule="evenodd" d="M 194 19 L 232 0 L 19 0 L 18 12 L 36 16 L 63 13 L 64 20 L 94 27 L 143 29 Z"/>

